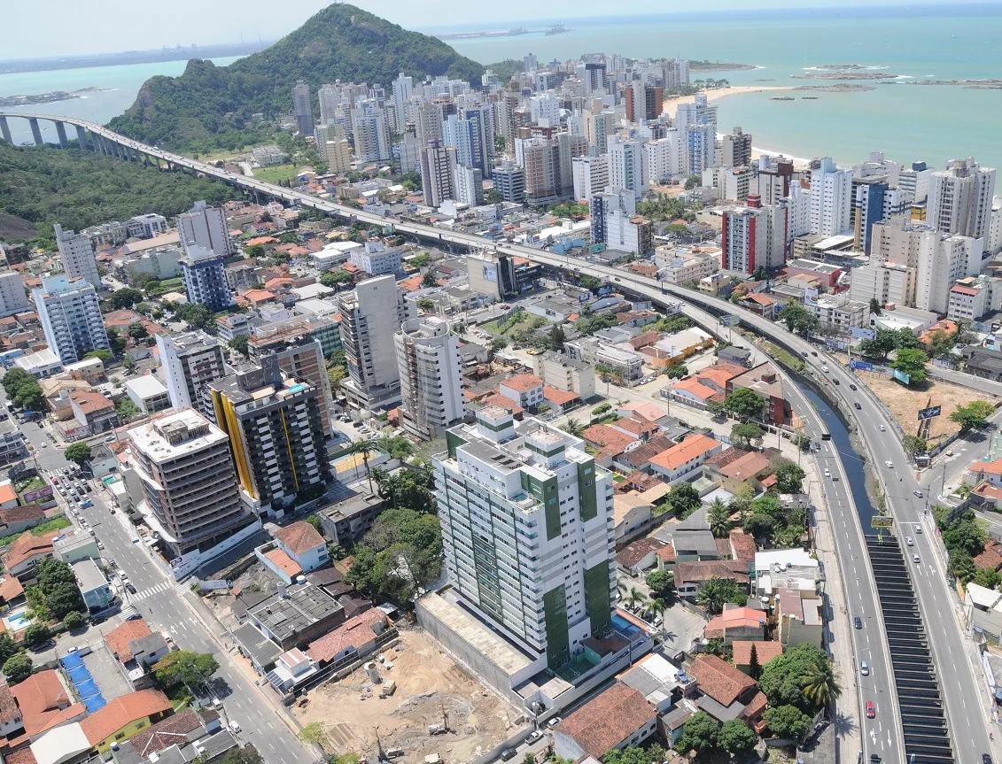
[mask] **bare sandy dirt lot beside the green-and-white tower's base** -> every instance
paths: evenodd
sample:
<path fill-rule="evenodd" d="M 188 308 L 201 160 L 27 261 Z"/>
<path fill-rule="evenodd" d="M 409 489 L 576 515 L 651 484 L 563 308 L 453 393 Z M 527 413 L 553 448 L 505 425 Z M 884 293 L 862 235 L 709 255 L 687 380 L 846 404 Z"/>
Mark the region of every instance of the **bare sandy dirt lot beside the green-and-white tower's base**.
<path fill-rule="evenodd" d="M 449 764 L 462 764 L 507 740 L 519 726 L 518 709 L 488 691 L 423 630 L 402 629 L 397 646 L 382 655 L 380 676 L 397 683 L 392 697 L 381 699 L 380 685 L 359 668 L 311 691 L 307 706 L 295 709 L 304 726 L 323 725 L 329 753 L 367 753 L 374 761 L 378 729 L 384 750 L 404 750 L 402 761 L 419 764 L 439 753 Z M 428 725 L 443 723 L 443 709 L 450 732 L 431 736 Z"/>

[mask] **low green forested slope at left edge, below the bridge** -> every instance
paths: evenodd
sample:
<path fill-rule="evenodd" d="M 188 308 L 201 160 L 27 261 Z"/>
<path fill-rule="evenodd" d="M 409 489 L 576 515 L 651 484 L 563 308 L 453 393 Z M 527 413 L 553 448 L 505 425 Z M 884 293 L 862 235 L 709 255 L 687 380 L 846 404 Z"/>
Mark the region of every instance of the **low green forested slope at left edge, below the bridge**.
<path fill-rule="evenodd" d="M 143 212 L 176 215 L 198 199 L 233 198 L 225 183 L 123 162 L 75 148 L 12 146 L 0 140 L 0 238 L 31 238 L 30 227 L 85 228 Z"/>

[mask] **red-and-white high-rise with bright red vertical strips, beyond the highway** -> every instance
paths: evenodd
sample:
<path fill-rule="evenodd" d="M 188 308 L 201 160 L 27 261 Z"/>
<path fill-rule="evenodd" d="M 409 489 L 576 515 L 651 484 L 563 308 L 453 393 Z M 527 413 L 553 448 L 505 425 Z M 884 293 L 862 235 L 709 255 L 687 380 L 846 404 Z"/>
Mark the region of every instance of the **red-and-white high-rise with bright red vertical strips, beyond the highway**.
<path fill-rule="evenodd" d="M 750 196 L 746 206 L 724 210 L 720 235 L 725 270 L 752 274 L 759 267 L 783 267 L 787 261 L 787 208 L 763 206 L 758 196 Z"/>

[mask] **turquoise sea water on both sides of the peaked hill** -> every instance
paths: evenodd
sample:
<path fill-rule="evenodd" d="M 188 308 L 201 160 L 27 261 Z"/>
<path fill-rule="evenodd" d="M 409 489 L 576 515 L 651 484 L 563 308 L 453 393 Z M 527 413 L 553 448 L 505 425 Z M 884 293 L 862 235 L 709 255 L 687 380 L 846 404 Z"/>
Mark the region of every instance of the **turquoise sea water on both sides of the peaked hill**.
<path fill-rule="evenodd" d="M 451 40 L 460 53 L 484 64 L 535 53 L 539 61 L 566 60 L 583 53 L 621 53 L 629 58 L 683 56 L 754 64 L 746 71 L 695 72 L 693 78 L 725 78 L 732 85 L 830 84 L 791 79 L 825 64 L 881 67 L 901 81 L 1002 78 L 997 41 L 1002 39 L 1002 5 L 997 3 L 911 8 L 852 8 L 657 15 L 643 18 L 558 18 L 477 25 L 475 29 L 562 23 L 572 31 L 545 36 Z M 470 31 L 437 28 L 437 32 Z M 219 59 L 225 64 L 235 59 Z M 65 69 L 0 75 L 0 95 L 108 87 L 86 98 L 43 104 L 40 111 L 106 122 L 124 111 L 141 84 L 154 74 L 177 75 L 183 61 L 132 66 Z M 844 164 L 871 151 L 909 163 L 940 167 L 948 159 L 974 156 L 982 165 L 1002 166 L 1002 90 L 955 85 L 872 84 L 867 92 L 762 92 L 717 101 L 718 129 L 739 125 L 758 148 L 788 155 L 833 156 Z M 774 101 L 792 95 L 794 101 Z M 817 96 L 802 100 L 800 96 Z M 20 120 L 11 122 L 15 141 L 30 140 Z M 54 136 L 53 136 L 54 137 Z"/>

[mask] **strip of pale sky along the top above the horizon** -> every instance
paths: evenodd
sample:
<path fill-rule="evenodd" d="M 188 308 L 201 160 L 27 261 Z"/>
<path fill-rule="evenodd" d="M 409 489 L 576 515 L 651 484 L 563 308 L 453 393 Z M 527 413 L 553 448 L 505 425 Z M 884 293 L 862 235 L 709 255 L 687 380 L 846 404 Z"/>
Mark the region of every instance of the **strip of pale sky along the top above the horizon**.
<path fill-rule="evenodd" d="M 7 34 L 3 60 L 31 60 L 83 55 L 113 54 L 133 50 L 153 50 L 177 45 L 223 45 L 254 40 L 278 40 L 302 26 L 311 16 L 330 5 L 329 0 L 303 0 L 283 9 L 285 28 L 262 26 L 261 19 L 274 18 L 274 4 L 265 0 L 175 0 L 170 14 L 164 18 L 161 6 L 136 3 L 134 0 L 106 0 L 102 13 L 88 13 L 88 6 L 70 0 L 48 0 L 44 24 L 39 23 L 37 9 L 20 5 L 5 14 Z M 709 14 L 756 15 L 766 11 L 790 13 L 828 13 L 847 15 L 860 11 L 874 13 L 882 9 L 902 8 L 905 13 L 931 8 L 949 8 L 961 13 L 995 7 L 1002 10 L 1000 0 L 969 0 L 962 4 L 910 0 L 882 0 L 872 6 L 868 0 L 764 0 L 754 8 L 740 0 L 704 0 L 699 10 L 693 10 L 687 0 L 635 0 L 625 13 L 610 15 L 605 0 L 579 0 L 573 15 L 554 15 L 553 6 L 541 6 L 533 0 L 510 0 L 501 7 L 457 4 L 454 0 L 430 0 L 416 6 L 411 0 L 356 0 L 360 8 L 417 31 L 483 25 L 485 28 L 505 24 L 540 21 L 594 20 L 601 18 L 635 18 L 664 16 L 672 13 L 688 16 Z M 119 12 L 120 11 L 120 12 Z M 197 26 L 181 23 L 182 19 L 198 19 Z M 448 18 L 448 24 L 429 23 L 436 18 Z M 175 23 L 170 23 L 175 21 Z M 142 36 L 136 30 L 141 30 Z M 128 44 L 131 42 L 131 44 Z M 623 51 L 625 52 L 625 51 Z"/>

